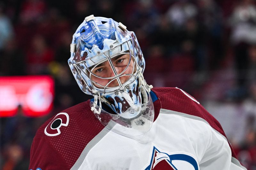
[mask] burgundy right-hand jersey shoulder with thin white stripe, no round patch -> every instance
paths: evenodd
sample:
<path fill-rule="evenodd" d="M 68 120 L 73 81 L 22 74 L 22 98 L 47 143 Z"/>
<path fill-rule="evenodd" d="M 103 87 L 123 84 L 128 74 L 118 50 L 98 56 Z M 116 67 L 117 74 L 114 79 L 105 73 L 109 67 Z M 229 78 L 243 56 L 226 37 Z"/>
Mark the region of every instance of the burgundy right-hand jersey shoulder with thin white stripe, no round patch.
<path fill-rule="evenodd" d="M 177 87 L 158 87 L 154 88 L 153 91 L 160 100 L 161 108 L 200 117 L 207 121 L 213 129 L 226 137 L 220 122 L 218 122 L 194 97 L 189 95 L 187 92 Z M 231 148 L 232 157 L 237 159 L 234 149 L 230 143 L 229 146 Z"/>

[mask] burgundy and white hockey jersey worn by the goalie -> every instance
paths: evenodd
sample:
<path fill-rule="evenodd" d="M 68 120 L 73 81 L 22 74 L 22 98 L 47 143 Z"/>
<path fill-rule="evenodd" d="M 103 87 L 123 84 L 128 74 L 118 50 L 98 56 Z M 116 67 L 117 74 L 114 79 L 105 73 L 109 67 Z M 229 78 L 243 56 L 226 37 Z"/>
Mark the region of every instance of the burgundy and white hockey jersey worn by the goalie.
<path fill-rule="evenodd" d="M 179 88 L 153 88 L 155 117 L 141 139 L 119 135 L 95 117 L 90 100 L 46 121 L 30 152 L 30 170 L 241 170 L 220 123 Z"/>

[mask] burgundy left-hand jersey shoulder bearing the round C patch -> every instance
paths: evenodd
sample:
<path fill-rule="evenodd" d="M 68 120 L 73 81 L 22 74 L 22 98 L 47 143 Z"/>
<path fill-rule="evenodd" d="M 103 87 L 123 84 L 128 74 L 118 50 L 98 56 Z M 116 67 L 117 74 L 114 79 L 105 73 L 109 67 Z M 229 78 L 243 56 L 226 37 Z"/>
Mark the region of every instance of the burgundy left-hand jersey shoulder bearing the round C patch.
<path fill-rule="evenodd" d="M 104 126 L 91 111 L 90 100 L 63 110 L 47 120 L 37 130 L 31 146 L 30 165 L 36 162 L 38 165 L 33 167 L 43 169 L 43 165 L 50 165 L 47 164 L 49 159 L 61 159 L 59 162 L 64 162 L 64 165 L 66 164 L 70 169 L 85 146 L 103 128 Z M 55 155 L 54 158 L 47 154 L 49 150 L 56 152 L 52 154 Z M 40 160 L 35 158 L 37 155 L 41 155 Z M 45 168 L 49 169 L 44 166 Z"/>

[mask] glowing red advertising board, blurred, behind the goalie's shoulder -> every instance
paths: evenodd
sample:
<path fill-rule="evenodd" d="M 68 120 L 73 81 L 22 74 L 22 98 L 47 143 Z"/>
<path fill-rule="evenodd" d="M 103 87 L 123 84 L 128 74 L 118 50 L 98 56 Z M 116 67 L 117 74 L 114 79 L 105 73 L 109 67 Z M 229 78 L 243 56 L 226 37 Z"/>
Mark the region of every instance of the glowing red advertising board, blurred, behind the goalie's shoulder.
<path fill-rule="evenodd" d="M 30 117 L 47 115 L 53 106 L 50 76 L 0 77 L 0 117 L 15 116 L 18 106 Z"/>

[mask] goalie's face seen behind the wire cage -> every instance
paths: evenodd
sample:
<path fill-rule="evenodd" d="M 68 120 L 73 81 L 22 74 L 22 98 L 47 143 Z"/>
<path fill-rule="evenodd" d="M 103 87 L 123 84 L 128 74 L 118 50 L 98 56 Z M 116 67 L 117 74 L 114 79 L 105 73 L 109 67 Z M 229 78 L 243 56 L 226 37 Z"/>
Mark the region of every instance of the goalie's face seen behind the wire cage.
<path fill-rule="evenodd" d="M 124 84 L 134 73 L 135 64 L 130 54 L 120 54 L 91 68 L 92 82 L 98 88 Z M 116 76 L 118 78 L 116 78 Z"/>

